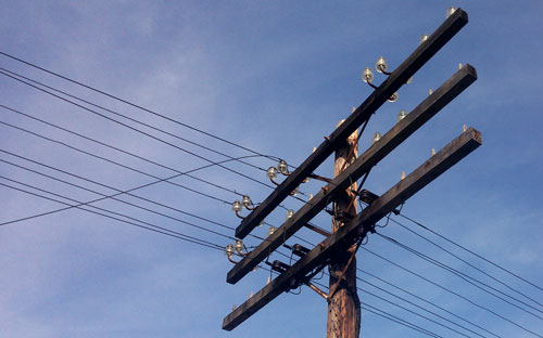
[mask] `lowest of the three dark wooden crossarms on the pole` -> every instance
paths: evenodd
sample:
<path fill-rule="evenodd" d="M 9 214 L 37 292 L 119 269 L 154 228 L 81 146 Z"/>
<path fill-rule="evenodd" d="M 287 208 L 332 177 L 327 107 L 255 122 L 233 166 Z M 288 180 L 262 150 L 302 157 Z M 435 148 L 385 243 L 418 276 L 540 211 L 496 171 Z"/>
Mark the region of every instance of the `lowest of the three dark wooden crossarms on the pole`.
<path fill-rule="evenodd" d="M 282 291 L 288 290 L 293 278 L 302 278 L 313 269 L 326 262 L 339 248 L 344 247 L 345 243 L 353 243 L 358 236 L 366 235 L 376 222 L 475 151 L 481 143 L 482 140 L 479 131 L 469 128 L 463 132 L 457 139 L 453 140 L 439 153 L 425 161 L 404 180 L 377 198 L 369 207 L 345 224 L 345 226 L 331 234 L 289 270 L 277 276 L 253 297 L 228 314 L 223 322 L 223 328 L 226 330 L 233 329 Z"/>

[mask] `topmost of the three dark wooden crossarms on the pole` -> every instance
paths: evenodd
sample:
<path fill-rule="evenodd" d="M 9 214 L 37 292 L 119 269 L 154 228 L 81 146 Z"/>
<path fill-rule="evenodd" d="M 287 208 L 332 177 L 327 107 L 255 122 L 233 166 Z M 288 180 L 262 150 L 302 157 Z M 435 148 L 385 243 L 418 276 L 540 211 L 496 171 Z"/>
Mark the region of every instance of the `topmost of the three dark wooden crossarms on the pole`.
<path fill-rule="evenodd" d="M 236 237 L 244 238 L 287 196 L 299 186 L 341 142 L 353 133 L 395 91 L 402 87 L 425 63 L 427 63 L 462 27 L 468 23 L 468 14 L 457 9 L 435 31 L 420 44 L 384 82 L 381 83 L 345 120 L 304 160 L 287 179 L 236 229 Z"/>

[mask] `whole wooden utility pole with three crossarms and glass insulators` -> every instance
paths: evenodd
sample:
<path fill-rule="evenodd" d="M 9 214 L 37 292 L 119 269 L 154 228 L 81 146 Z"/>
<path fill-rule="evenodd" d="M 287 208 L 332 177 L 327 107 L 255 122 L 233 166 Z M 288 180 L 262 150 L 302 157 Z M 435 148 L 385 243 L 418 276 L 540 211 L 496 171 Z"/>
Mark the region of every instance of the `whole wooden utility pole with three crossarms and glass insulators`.
<path fill-rule="evenodd" d="M 239 214 L 241 211 L 239 200 L 232 204 L 232 210 L 243 219 L 236 229 L 236 237 L 239 238 L 236 247 L 240 260 L 231 260 L 235 255 L 233 246 L 228 245 L 225 253 L 235 266 L 228 272 L 226 282 L 238 283 L 260 263 L 269 264 L 278 275 L 268 280 L 260 291 L 251 294 L 241 306 L 233 307 L 223 321 L 224 329 L 232 330 L 282 292 L 306 285 L 328 301 L 327 338 L 358 337 L 361 303 L 356 288 L 355 255 L 362 240 L 368 233 L 376 232 L 375 225 L 379 220 L 390 212 L 395 212 L 396 208 L 411 196 L 482 144 L 479 131 L 465 128 L 458 138 L 438 153 L 432 152 L 428 160 L 406 177 L 402 176 L 402 180 L 382 195 L 365 190 L 358 192 L 356 188 L 358 179 L 362 178 L 361 185 L 363 185 L 371 168 L 477 80 L 477 72 L 472 66 L 468 64 L 460 66 L 449 80 L 397 120 L 388 132 L 376 139 L 376 142 L 372 142 L 359 157 L 357 156 L 357 129 L 366 126 L 370 116 L 376 114 L 396 90 L 406 84 L 408 79 L 468 23 L 468 15 L 462 9 L 449 14 L 440 27 L 432 35 L 426 36 L 419 47 L 395 70 L 387 73 L 383 68 L 379 69 L 388 76 L 380 86 L 370 83 L 372 74 L 365 78 L 375 91 L 354 108 L 345 120 L 338 123 L 337 128 L 325 136 L 325 141 L 293 172 L 279 169 L 280 166 L 283 169 L 287 167 L 285 162 L 279 164 L 277 168 L 268 169 L 269 179 L 278 186 L 263 203 L 257 206 L 248 203 L 245 207 L 251 212 L 247 217 Z M 314 170 L 333 152 L 336 152 L 333 179 L 315 174 Z M 281 183 L 274 181 L 278 171 L 286 177 Z M 243 251 L 241 239 L 308 178 L 324 181 L 326 185 L 311 198 L 311 202 L 287 218 L 279 227 L 274 229 L 266 240 L 251 251 Z M 250 202 L 249 196 L 244 197 Z M 367 204 L 367 207 L 358 213 L 356 198 Z M 330 203 L 333 217 L 331 233 L 308 224 L 323 210 L 329 211 L 326 208 Z M 324 235 L 325 239 L 314 248 L 305 248 L 300 244 L 287 245 L 286 242 L 302 227 L 315 230 Z M 279 260 L 269 262 L 270 253 L 279 247 L 289 248 L 299 259 L 292 261 L 292 265 Z M 328 295 L 311 283 L 312 278 L 327 265 L 330 272 Z"/>

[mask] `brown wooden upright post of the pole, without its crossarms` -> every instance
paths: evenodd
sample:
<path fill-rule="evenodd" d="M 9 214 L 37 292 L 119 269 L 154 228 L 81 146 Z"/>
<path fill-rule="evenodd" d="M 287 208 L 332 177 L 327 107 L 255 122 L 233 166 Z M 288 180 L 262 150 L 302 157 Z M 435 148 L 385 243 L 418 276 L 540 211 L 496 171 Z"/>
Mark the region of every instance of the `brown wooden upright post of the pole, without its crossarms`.
<path fill-rule="evenodd" d="M 337 127 L 343 123 L 341 120 Z M 336 151 L 333 177 L 338 177 L 358 155 L 358 131 L 355 130 Z M 337 196 L 333 205 L 332 233 L 356 216 L 356 181 Z M 361 301 L 356 292 L 356 245 L 340 250 L 330 259 L 327 338 L 357 338 L 361 330 Z"/>

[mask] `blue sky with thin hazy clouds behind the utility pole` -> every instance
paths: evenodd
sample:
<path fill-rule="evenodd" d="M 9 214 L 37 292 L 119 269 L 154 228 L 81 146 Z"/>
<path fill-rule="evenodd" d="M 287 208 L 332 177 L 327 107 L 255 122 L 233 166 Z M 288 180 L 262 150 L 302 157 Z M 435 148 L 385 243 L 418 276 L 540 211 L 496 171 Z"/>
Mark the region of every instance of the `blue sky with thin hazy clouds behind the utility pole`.
<path fill-rule="evenodd" d="M 411 84 L 399 91 L 396 103 L 387 103 L 377 112 L 361 139 L 361 150 L 369 146 L 374 132 L 383 133 L 394 125 L 400 109 L 411 110 L 428 95 L 428 89 L 438 88 L 454 74 L 458 63 L 473 65 L 479 79 L 382 160 L 371 171 L 366 185 L 378 194 L 384 193 L 397 182 L 402 170 L 407 173 L 414 170 L 430 156 L 431 148 L 439 150 L 457 136 L 463 125 L 477 128 L 482 132 L 483 145 L 409 199 L 403 212 L 527 280 L 543 285 L 541 1 L 4 1 L 0 14 L 1 51 L 251 150 L 299 165 L 313 146 L 318 146 L 323 136 L 350 114 L 351 107 L 361 104 L 371 92 L 361 81 L 362 70 L 372 67 L 378 56 L 384 56 L 389 67 L 395 68 L 415 50 L 422 34 L 432 32 L 442 23 L 450 5 L 466 10 L 469 24 L 415 75 Z M 0 55 L 0 63 L 3 69 L 165 130 L 171 135 L 115 117 L 169 144 L 79 109 L 7 76 L 0 79 L 0 104 L 162 166 L 185 171 L 206 164 L 179 147 L 212 160 L 225 159 L 173 135 L 229 156 L 250 155 L 9 57 Z M 376 83 L 383 79 L 382 75 L 377 75 Z M 175 174 L 164 167 L 121 154 L 9 109 L 0 108 L 0 120 L 4 122 L 0 125 L 3 151 L 0 158 L 4 160 L 0 162 L 2 178 L 83 202 L 99 198 L 99 195 L 5 161 L 108 195 L 114 191 L 104 185 L 128 190 L 155 180 L 150 176 L 165 178 Z M 99 155 L 110 162 L 59 142 Z M 81 181 L 5 152 L 104 185 Z M 144 171 L 148 176 L 111 161 Z M 275 165 L 266 158 L 250 158 L 248 161 L 261 168 Z M 267 182 L 261 170 L 236 162 L 227 166 Z M 326 161 L 317 172 L 331 176 L 332 162 Z M 254 202 L 263 200 L 272 192 L 262 184 L 220 168 L 197 171 L 194 176 L 249 194 Z M 174 182 L 222 200 L 233 202 L 238 198 L 231 192 L 190 178 L 178 178 Z M 22 187 L 5 179 L 1 179 L 0 183 Z M 302 186 L 306 194 L 319 188 L 318 182 L 313 181 Z M 5 186 L 0 186 L 0 223 L 62 207 Z M 239 224 L 229 205 L 173 184 L 163 182 L 142 188 L 137 194 L 227 226 Z M 230 230 L 180 214 L 172 208 L 129 196 L 122 198 L 228 236 L 233 235 Z M 102 200 L 96 206 L 220 246 L 231 242 L 118 202 Z M 302 204 L 290 198 L 285 206 L 298 209 Z M 283 218 L 285 210 L 278 209 L 267 222 L 277 225 Z M 439 238 L 421 232 L 404 219 L 395 220 L 428 235 L 473 265 L 542 302 L 541 290 L 458 251 L 447 243 L 439 242 Z M 329 216 L 320 214 L 314 223 L 328 229 Z M 254 231 L 257 235 L 265 232 L 265 227 Z M 390 222 L 382 233 L 503 289 L 500 284 L 395 223 Z M 321 237 L 308 232 L 301 232 L 300 235 L 312 243 L 321 240 Z M 248 246 L 257 244 L 254 238 L 247 242 Z M 378 236 L 370 236 L 364 248 L 424 274 L 539 335 L 543 334 L 542 320 L 488 296 Z M 298 296 L 279 296 L 232 333 L 222 330 L 223 317 L 232 304 L 239 306 L 250 291 L 256 292 L 269 276 L 268 272 L 258 270 L 232 286 L 225 282 L 230 268 L 219 250 L 76 209 L 3 225 L 0 226 L 0 336 L 325 335 L 326 302 L 308 288 L 303 288 Z M 426 297 L 503 337 L 535 337 L 364 250 L 358 253 L 358 268 Z M 387 287 L 362 272 L 358 276 Z M 366 283 L 359 282 L 358 286 L 382 295 Z M 401 295 L 401 291 L 394 292 Z M 441 336 L 458 336 L 365 291 L 361 291 L 359 296 L 369 304 Z M 402 303 L 390 295 L 383 297 Z M 522 299 L 542 310 L 542 307 Z M 541 312 L 535 313 L 543 316 Z M 482 336 L 489 335 L 465 325 Z M 420 336 L 363 311 L 361 337 L 376 335 Z"/>

